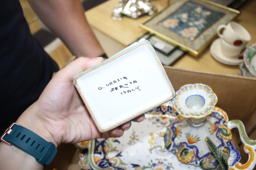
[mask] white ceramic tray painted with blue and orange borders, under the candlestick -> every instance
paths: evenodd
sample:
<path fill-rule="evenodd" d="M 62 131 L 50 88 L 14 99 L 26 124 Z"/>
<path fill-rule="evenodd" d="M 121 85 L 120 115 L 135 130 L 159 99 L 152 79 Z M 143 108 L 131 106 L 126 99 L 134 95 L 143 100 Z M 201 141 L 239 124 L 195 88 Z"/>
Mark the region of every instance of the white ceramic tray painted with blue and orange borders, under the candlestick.
<path fill-rule="evenodd" d="M 171 102 L 152 109 L 145 114 L 145 120 L 133 123 L 120 138 L 102 138 L 89 142 L 88 149 L 80 150 L 82 169 L 201 169 L 200 166 L 184 164 L 178 157 L 165 148 L 164 135 L 174 122 L 182 121 L 171 106 Z M 215 107 L 215 114 L 222 114 Z M 223 115 L 225 120 L 228 117 Z M 87 144 L 87 143 L 86 143 Z M 231 157 L 239 157 L 238 152 Z M 239 159 L 238 158 L 238 159 Z M 236 161 L 229 160 L 229 166 Z M 231 166 L 232 166 L 231 165 Z"/>

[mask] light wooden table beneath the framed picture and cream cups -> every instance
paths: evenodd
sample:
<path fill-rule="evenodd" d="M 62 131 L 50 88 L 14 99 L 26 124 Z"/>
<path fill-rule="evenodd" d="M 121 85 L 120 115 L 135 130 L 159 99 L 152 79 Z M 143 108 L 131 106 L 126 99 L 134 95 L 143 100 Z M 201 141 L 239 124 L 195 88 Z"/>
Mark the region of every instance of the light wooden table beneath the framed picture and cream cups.
<path fill-rule="evenodd" d="M 152 2 L 156 5 L 158 11 L 164 9 L 160 0 L 153 0 Z M 104 50 L 108 51 L 107 54 L 109 56 L 118 53 L 120 50 L 127 47 L 133 41 L 144 35 L 146 31 L 144 31 L 138 25 L 149 18 L 147 15 L 138 19 L 132 19 L 123 16 L 122 21 L 114 21 L 111 19 L 111 14 L 112 9 L 117 3 L 117 0 L 109 0 L 86 11 L 85 13 L 88 22 L 96 33 L 98 40 L 100 41 Z M 236 22 L 243 25 L 243 27 L 246 28 L 251 34 L 251 41 L 249 44 L 256 42 L 255 6 L 255 0 L 248 0 L 238 9 L 241 14 L 235 20 Z M 209 48 L 210 47 L 206 48 L 205 51 L 198 57 L 185 54 L 171 66 L 207 72 L 226 73 L 233 75 L 239 74 L 238 66 L 229 66 L 218 62 L 211 56 Z"/>

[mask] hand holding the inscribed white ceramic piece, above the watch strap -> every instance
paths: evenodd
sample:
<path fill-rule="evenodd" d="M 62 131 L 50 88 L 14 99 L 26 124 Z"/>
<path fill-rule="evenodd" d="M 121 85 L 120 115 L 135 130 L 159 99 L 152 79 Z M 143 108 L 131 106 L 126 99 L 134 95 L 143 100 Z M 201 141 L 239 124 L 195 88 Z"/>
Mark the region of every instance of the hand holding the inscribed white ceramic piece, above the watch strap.
<path fill-rule="evenodd" d="M 100 133 L 72 82 L 74 75 L 102 61 L 101 57 L 79 57 L 68 64 L 52 78 L 39 99 L 20 116 L 17 123 L 56 146 L 122 136 L 124 130 L 130 128 L 131 121 Z M 144 114 L 140 115 L 133 121 L 141 122 L 144 117 Z"/>

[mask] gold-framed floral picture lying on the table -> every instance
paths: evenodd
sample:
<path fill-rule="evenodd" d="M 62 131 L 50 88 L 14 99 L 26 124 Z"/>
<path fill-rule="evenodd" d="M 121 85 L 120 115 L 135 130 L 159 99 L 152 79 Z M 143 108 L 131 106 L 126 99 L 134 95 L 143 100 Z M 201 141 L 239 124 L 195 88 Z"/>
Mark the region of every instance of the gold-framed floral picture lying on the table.
<path fill-rule="evenodd" d="M 211 1 L 180 0 L 140 27 L 197 57 L 217 37 L 217 27 L 239 14 Z"/>

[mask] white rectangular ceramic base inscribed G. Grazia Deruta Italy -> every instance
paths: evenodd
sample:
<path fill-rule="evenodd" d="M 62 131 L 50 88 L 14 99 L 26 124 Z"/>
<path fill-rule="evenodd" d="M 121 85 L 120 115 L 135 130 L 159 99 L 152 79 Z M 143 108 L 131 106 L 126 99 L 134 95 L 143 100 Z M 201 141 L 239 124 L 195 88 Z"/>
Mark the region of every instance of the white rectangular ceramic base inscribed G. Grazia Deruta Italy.
<path fill-rule="evenodd" d="M 175 97 L 148 40 L 74 76 L 73 82 L 101 133 Z"/>

